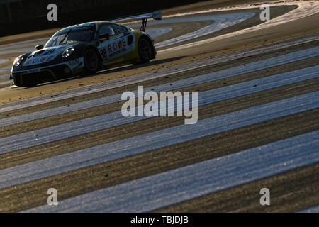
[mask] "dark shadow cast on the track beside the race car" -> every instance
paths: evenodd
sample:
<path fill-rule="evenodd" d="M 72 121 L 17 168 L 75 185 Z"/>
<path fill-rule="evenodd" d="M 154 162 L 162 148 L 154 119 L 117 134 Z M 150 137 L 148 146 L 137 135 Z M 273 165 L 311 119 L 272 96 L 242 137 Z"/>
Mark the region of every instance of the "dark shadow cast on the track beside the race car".
<path fill-rule="evenodd" d="M 113 72 L 125 72 L 126 70 L 134 70 L 134 69 L 147 67 L 147 66 L 152 66 L 152 65 L 160 65 L 160 64 L 167 63 L 167 62 L 173 62 L 173 61 L 179 60 L 181 58 L 183 58 L 183 57 L 171 57 L 171 58 L 167 58 L 167 59 L 163 59 L 163 60 L 152 60 L 150 62 L 139 64 L 139 65 L 125 65 L 125 66 L 122 66 L 122 67 L 116 67 L 116 68 L 102 70 L 102 71 L 97 72 L 96 74 L 74 76 L 74 77 L 69 77 L 69 78 L 66 78 L 66 79 L 59 79 L 59 80 L 52 81 L 52 82 L 45 82 L 45 83 L 42 83 L 42 84 L 38 84 L 37 87 L 45 86 L 47 84 L 58 84 L 60 82 L 66 82 L 66 81 L 69 81 L 69 80 L 82 79 L 84 77 L 95 77 L 95 76 L 101 75 L 101 74 L 106 74 L 107 75 L 107 74 L 113 73 Z M 28 89 L 28 87 L 26 87 L 26 89 Z"/>

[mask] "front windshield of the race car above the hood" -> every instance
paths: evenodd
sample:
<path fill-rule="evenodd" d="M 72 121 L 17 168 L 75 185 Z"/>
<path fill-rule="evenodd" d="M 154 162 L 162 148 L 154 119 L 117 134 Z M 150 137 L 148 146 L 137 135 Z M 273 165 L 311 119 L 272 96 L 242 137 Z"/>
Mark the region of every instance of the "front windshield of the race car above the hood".
<path fill-rule="evenodd" d="M 54 47 L 63 44 L 73 44 L 79 42 L 89 42 L 94 38 L 95 31 L 91 28 L 80 27 L 72 28 L 68 31 L 62 31 L 57 33 L 50 38 L 45 44 L 45 48 Z"/>

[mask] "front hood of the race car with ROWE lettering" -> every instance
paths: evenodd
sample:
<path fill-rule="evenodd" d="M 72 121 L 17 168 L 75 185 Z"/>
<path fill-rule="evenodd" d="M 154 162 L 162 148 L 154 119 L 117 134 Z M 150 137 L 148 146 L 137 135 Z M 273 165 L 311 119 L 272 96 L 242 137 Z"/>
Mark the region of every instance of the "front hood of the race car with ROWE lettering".
<path fill-rule="evenodd" d="M 23 63 L 23 66 L 40 65 L 52 60 L 58 55 L 62 55 L 62 52 L 67 48 L 72 48 L 74 45 L 59 45 L 52 48 L 43 48 L 42 50 L 35 50 L 30 52 L 28 57 Z"/>

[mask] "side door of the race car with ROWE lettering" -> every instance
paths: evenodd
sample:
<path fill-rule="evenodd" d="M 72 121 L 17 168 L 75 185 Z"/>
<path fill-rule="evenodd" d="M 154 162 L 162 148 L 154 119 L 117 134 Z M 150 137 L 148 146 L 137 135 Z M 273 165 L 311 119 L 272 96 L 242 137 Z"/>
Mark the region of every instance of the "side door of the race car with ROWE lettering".
<path fill-rule="evenodd" d="M 123 55 L 135 49 L 135 36 L 125 26 L 105 23 L 99 27 L 98 50 L 103 64 L 123 61 Z"/>

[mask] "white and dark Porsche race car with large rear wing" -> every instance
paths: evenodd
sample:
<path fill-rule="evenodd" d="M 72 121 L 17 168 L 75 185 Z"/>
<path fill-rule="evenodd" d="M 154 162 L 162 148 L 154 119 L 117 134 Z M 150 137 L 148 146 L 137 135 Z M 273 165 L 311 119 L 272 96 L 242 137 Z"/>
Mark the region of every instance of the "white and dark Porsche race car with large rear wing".
<path fill-rule="evenodd" d="M 145 33 L 147 18 L 160 20 L 162 13 L 147 13 L 116 21 L 98 21 L 57 31 L 45 46 L 16 58 L 11 79 L 18 87 L 94 74 L 103 68 L 149 62 L 156 57 L 154 40 Z M 140 31 L 118 21 L 142 19 Z"/>

